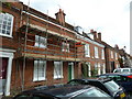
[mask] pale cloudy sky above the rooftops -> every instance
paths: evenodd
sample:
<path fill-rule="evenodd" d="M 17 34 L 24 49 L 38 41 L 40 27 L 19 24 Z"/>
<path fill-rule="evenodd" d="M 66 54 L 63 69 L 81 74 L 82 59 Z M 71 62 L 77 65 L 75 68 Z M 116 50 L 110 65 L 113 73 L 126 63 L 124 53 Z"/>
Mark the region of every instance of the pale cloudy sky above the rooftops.
<path fill-rule="evenodd" d="M 28 4 L 29 0 L 20 0 Z M 58 9 L 66 13 L 66 22 L 86 32 L 102 33 L 102 41 L 130 53 L 131 0 L 30 0 L 30 7 L 55 18 Z"/>

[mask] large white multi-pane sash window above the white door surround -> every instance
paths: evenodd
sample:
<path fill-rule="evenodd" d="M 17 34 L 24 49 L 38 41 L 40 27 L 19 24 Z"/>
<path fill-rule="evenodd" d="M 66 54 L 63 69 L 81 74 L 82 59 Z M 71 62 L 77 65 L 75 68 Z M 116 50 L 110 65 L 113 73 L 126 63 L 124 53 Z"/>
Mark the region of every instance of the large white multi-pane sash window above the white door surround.
<path fill-rule="evenodd" d="M 0 35 L 12 37 L 13 15 L 0 13 Z"/>

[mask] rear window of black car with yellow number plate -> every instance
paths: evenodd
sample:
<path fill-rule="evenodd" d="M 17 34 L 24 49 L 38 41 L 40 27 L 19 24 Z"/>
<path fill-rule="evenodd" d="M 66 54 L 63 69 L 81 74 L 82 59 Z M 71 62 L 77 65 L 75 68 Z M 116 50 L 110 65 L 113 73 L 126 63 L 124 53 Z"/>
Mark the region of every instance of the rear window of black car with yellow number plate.
<path fill-rule="evenodd" d="M 120 86 L 118 84 L 116 84 L 113 80 L 110 81 L 106 81 L 105 86 L 111 91 L 111 92 L 116 92 L 119 90 Z"/>

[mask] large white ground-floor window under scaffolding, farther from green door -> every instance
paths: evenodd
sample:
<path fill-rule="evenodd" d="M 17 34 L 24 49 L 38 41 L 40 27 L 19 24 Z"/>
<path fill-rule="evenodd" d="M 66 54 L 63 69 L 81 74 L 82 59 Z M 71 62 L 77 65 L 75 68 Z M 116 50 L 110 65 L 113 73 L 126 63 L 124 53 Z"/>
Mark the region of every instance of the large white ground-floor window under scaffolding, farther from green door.
<path fill-rule="evenodd" d="M 43 76 L 40 73 L 44 73 Z M 41 80 L 46 80 L 46 61 L 34 61 L 33 81 L 41 81 Z"/>

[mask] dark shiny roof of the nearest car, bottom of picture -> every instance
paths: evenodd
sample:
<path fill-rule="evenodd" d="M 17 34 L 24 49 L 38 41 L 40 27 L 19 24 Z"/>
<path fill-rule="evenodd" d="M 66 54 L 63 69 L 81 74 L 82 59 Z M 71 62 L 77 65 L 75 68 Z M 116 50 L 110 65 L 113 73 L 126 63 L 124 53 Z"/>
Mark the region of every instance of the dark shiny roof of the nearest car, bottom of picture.
<path fill-rule="evenodd" d="M 62 85 L 62 86 L 50 86 L 50 87 L 38 87 L 35 89 L 26 90 L 21 94 L 41 94 L 41 95 L 48 95 L 55 97 L 70 97 L 72 94 L 78 92 L 81 90 L 88 90 L 90 88 L 95 88 L 92 86 L 85 86 L 85 85 Z M 21 95 L 20 94 L 20 95 Z"/>

